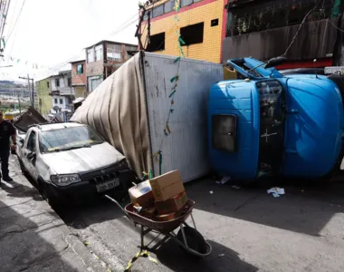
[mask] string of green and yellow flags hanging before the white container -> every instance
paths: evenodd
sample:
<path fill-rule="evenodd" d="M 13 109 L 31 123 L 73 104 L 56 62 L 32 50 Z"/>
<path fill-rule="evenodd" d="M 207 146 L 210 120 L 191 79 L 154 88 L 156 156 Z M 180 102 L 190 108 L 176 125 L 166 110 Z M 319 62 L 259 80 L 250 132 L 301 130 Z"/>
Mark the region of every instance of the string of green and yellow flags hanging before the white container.
<path fill-rule="evenodd" d="M 174 17 L 174 21 L 175 21 L 175 34 L 177 35 L 177 46 L 178 46 L 178 51 L 179 51 L 179 56 L 174 60 L 174 64 L 177 64 L 177 72 L 176 75 L 173 76 L 169 81 L 170 83 L 174 83 L 170 94 L 168 95 L 168 98 L 170 99 L 170 108 L 169 108 L 169 112 L 167 115 L 167 121 L 166 121 L 166 125 L 165 125 L 165 129 L 164 129 L 164 137 L 161 140 L 161 144 L 159 146 L 159 150 L 153 155 L 153 158 L 158 159 L 159 162 L 159 175 L 162 174 L 162 146 L 164 144 L 164 140 L 165 138 L 171 134 L 171 128 L 169 126 L 169 120 L 170 117 L 172 116 L 173 112 L 175 112 L 174 109 L 174 105 L 175 105 L 175 95 L 177 93 L 177 86 L 178 86 L 178 81 L 179 81 L 179 67 L 180 67 L 180 59 L 183 57 L 185 57 L 185 54 L 183 52 L 183 48 L 182 45 L 185 45 L 185 41 L 183 40 L 183 38 L 181 37 L 180 34 L 180 30 L 179 30 L 179 26 L 178 26 L 178 22 L 180 21 L 178 18 L 178 11 L 180 9 L 180 5 L 179 5 L 179 0 L 175 1 L 175 5 L 174 5 L 174 10 L 176 11 L 176 15 Z"/>

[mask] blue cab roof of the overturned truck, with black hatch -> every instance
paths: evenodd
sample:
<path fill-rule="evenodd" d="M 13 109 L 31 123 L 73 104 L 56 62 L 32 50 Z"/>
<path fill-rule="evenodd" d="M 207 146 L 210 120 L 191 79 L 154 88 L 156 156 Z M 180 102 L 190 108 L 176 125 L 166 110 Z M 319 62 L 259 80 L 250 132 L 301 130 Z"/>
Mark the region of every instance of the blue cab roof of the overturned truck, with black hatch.
<path fill-rule="evenodd" d="M 209 94 L 208 133 L 212 169 L 234 179 L 257 174 L 259 97 L 252 82 L 216 83 Z"/>

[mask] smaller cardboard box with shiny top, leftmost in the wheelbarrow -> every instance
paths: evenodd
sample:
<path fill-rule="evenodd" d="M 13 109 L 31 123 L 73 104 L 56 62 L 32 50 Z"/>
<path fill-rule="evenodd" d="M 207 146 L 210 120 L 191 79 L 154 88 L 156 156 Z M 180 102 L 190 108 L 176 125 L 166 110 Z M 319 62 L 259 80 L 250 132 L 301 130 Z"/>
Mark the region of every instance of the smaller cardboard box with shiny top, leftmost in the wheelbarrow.
<path fill-rule="evenodd" d="M 154 207 L 152 188 L 148 180 L 139 183 L 129 189 L 129 197 L 132 204 L 139 204 L 140 207 Z"/>

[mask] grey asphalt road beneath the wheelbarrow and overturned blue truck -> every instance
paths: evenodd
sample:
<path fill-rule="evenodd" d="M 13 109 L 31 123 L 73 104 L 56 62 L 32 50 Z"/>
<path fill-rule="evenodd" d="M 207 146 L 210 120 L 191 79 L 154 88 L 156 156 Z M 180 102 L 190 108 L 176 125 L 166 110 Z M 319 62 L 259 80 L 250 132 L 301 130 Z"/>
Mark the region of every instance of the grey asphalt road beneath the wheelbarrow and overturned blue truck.
<path fill-rule="evenodd" d="M 186 184 L 211 256 L 189 257 L 168 241 L 151 253 L 158 265 L 141 257 L 132 271 L 344 271 L 344 184 L 287 182 L 286 194 L 276 199 L 266 193 L 268 185 L 232 185 L 211 179 Z M 122 271 L 139 251 L 139 228 L 108 199 L 57 212 L 111 271 Z"/>

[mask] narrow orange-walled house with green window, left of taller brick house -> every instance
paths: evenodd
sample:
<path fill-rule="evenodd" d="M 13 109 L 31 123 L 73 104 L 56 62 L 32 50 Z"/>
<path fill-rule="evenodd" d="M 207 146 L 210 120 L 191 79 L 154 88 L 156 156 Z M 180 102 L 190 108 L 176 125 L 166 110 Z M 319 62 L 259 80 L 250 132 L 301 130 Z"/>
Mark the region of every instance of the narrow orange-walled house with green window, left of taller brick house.
<path fill-rule="evenodd" d="M 71 62 L 72 64 L 72 87 L 75 90 L 75 98 L 86 96 L 86 60 Z"/>

